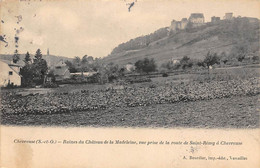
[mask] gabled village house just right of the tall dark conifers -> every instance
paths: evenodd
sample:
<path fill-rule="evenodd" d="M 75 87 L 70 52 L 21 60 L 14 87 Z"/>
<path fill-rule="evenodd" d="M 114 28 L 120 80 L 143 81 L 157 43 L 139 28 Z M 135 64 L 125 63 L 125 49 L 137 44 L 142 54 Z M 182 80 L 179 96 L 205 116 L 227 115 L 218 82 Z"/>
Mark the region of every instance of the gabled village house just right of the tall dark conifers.
<path fill-rule="evenodd" d="M 65 64 L 63 60 L 60 60 L 53 68 L 53 74 L 56 81 L 62 81 L 64 79 L 70 78 L 69 67 Z"/>

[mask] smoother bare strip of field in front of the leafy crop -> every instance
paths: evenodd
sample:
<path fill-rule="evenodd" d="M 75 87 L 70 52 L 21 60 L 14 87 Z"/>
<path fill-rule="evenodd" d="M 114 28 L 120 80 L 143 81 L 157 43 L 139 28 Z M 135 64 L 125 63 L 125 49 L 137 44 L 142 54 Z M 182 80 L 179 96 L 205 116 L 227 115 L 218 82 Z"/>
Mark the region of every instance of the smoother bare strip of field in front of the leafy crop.
<path fill-rule="evenodd" d="M 66 114 L 6 115 L 4 125 L 92 127 L 257 128 L 258 96 L 158 104 L 148 107 L 79 111 Z"/>

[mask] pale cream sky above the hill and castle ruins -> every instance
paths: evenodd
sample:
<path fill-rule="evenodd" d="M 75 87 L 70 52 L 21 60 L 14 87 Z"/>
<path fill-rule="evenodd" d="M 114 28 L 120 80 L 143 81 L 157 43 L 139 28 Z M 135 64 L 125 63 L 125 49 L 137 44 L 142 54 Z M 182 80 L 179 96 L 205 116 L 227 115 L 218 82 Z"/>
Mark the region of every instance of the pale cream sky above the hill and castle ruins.
<path fill-rule="evenodd" d="M 135 0 L 134 0 L 135 1 Z M 104 57 L 120 43 L 170 26 L 191 13 L 260 18 L 260 0 L 0 0 L 0 54 Z M 20 17 L 17 17 L 20 16 Z M 18 30 L 18 31 L 17 31 Z M 18 37 L 16 46 L 14 37 Z"/>

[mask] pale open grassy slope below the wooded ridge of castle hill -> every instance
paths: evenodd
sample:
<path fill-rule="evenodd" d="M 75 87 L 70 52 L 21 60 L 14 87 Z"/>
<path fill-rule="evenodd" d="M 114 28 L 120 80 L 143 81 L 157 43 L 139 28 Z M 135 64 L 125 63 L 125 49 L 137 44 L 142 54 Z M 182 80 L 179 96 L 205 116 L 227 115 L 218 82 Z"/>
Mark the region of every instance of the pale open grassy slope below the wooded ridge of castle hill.
<path fill-rule="evenodd" d="M 111 54 L 105 57 L 104 61 L 106 63 L 126 64 L 148 57 L 154 58 L 158 64 L 161 64 L 172 58 L 181 59 L 183 56 L 203 59 L 208 51 L 229 53 L 237 42 L 250 36 L 252 30 L 258 34 L 259 27 L 257 24 L 250 24 L 251 27 L 249 28 L 244 24 L 244 20 L 237 20 L 236 23 L 222 21 L 215 25 L 207 24 L 190 32 L 182 30 L 150 43 L 146 48 Z M 232 30 L 232 27 L 238 27 L 238 30 Z M 245 30 L 244 27 L 246 27 Z M 258 44 L 258 40 L 252 38 L 250 40 L 250 46 Z"/>

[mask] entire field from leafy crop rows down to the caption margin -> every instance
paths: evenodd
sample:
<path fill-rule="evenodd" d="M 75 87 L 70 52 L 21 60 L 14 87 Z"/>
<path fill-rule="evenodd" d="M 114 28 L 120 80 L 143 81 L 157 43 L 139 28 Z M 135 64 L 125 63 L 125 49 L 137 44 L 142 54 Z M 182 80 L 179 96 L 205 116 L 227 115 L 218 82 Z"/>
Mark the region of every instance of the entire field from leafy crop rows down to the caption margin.
<path fill-rule="evenodd" d="M 135 84 L 1 91 L 1 124 L 91 127 L 259 127 L 259 68 L 170 74 Z"/>

